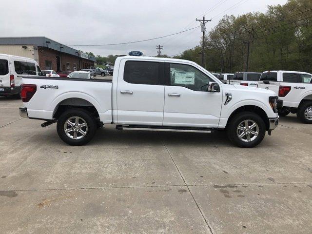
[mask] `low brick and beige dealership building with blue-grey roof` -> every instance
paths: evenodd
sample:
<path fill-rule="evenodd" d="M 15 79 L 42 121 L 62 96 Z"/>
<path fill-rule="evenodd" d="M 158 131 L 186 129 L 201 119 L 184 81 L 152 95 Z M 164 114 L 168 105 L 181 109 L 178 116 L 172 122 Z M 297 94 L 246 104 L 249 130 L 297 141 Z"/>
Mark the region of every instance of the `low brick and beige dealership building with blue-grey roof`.
<path fill-rule="evenodd" d="M 75 71 L 94 66 L 95 57 L 46 37 L 0 38 L 0 54 L 35 59 L 42 70 Z"/>

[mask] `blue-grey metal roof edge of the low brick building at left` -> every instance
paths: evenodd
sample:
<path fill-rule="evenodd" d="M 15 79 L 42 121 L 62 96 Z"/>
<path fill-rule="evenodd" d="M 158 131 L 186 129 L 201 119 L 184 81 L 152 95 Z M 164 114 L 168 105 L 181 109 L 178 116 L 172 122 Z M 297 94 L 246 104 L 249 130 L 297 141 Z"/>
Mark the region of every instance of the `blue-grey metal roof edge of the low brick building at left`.
<path fill-rule="evenodd" d="M 8 37 L 8 38 L 0 38 L 0 45 L 37 45 L 40 47 L 47 47 L 52 50 L 56 50 L 62 53 L 74 55 L 80 58 L 84 58 L 80 56 L 81 52 L 73 49 L 69 46 L 61 44 L 55 40 L 46 38 L 46 37 Z M 97 59 L 93 56 L 88 56 L 89 60 L 96 62 Z"/>

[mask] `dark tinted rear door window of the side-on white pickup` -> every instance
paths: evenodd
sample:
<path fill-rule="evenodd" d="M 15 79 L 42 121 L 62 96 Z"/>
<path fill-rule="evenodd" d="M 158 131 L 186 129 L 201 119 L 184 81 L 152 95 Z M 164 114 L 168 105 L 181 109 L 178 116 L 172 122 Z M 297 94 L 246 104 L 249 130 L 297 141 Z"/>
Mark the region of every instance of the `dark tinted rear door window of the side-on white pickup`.
<path fill-rule="evenodd" d="M 159 85 L 159 63 L 126 61 L 123 79 L 132 84 Z"/>

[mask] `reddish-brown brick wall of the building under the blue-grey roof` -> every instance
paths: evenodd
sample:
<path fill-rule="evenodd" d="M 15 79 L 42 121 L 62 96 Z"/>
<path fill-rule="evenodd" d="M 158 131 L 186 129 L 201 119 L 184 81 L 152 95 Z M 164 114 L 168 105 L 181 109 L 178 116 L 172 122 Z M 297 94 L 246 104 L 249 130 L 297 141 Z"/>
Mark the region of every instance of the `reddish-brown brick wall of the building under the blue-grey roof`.
<path fill-rule="evenodd" d="M 42 52 L 41 52 L 42 51 Z M 58 71 L 57 69 L 57 56 L 60 57 L 60 70 L 67 70 L 67 64 L 69 63 L 69 70 L 74 71 L 74 64 L 76 64 L 76 70 L 83 68 L 90 68 L 94 66 L 94 62 L 88 59 L 83 59 L 74 55 L 60 53 L 46 47 L 38 48 L 39 53 L 39 66 L 42 70 L 46 69 L 45 60 L 49 60 L 52 63 L 52 70 Z"/>

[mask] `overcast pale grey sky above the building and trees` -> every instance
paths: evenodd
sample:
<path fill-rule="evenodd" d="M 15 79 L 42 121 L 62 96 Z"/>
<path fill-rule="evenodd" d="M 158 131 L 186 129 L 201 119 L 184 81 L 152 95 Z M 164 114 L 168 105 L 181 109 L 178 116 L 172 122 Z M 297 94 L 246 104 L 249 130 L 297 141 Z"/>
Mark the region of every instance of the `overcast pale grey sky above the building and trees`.
<path fill-rule="evenodd" d="M 8 0 L 1 2 L 0 37 L 45 36 L 63 44 L 112 44 L 157 38 L 199 26 L 209 31 L 225 14 L 265 12 L 267 5 L 287 0 Z M 180 53 L 199 44 L 196 28 L 175 36 L 126 45 L 71 46 L 95 55 L 142 51 L 156 55 Z"/>

